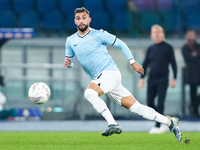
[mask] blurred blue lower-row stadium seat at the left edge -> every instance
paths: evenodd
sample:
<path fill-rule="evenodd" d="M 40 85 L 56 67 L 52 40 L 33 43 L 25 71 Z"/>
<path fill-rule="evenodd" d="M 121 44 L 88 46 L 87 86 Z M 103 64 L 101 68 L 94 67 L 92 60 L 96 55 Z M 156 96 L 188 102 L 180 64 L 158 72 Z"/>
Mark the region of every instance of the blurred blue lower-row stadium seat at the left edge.
<path fill-rule="evenodd" d="M 6 11 L 0 14 L 0 27 L 1 28 L 14 28 L 16 27 L 16 16 L 11 11 Z"/>

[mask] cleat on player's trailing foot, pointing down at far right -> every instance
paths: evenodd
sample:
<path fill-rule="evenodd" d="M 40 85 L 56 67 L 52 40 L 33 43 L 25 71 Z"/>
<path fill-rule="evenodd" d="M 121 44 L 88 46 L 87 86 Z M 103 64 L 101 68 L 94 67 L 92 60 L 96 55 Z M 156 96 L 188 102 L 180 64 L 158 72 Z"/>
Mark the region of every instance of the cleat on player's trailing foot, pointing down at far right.
<path fill-rule="evenodd" d="M 171 121 L 171 124 L 169 126 L 169 130 L 174 133 L 177 141 L 180 142 L 181 139 L 182 139 L 182 133 L 181 133 L 181 130 L 179 129 L 179 127 L 178 127 L 178 124 L 179 124 L 178 118 L 171 117 L 169 120 Z"/>

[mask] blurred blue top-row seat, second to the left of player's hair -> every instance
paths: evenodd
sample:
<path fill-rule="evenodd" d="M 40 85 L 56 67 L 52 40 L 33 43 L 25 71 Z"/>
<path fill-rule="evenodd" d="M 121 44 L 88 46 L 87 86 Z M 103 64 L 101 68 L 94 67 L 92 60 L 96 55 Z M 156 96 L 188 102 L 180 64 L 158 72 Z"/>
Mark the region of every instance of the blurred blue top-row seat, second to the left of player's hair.
<path fill-rule="evenodd" d="M 56 0 L 37 0 L 36 7 L 42 15 L 52 13 L 58 9 Z"/>

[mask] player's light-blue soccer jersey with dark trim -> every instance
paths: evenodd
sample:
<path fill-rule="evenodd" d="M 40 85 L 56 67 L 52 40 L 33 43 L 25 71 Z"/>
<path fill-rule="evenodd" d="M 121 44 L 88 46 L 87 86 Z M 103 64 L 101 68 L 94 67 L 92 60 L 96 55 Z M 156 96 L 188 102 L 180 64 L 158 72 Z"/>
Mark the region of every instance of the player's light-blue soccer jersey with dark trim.
<path fill-rule="evenodd" d="M 83 36 L 76 32 L 67 38 L 65 56 L 74 61 L 76 55 L 83 70 L 91 79 L 94 79 L 104 70 L 118 70 L 112 57 L 107 52 L 107 44 L 118 47 L 128 59 L 133 58 L 126 44 L 117 39 L 116 36 L 104 30 L 92 28 Z"/>

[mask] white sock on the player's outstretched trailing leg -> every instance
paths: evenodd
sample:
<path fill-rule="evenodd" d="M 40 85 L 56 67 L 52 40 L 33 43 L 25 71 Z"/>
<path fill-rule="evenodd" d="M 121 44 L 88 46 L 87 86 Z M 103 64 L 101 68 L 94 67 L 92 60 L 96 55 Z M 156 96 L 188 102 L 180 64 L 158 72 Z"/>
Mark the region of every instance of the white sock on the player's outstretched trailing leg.
<path fill-rule="evenodd" d="M 140 104 L 136 101 L 129 110 L 134 112 L 138 115 L 141 115 L 143 118 L 156 121 L 159 123 L 163 123 L 167 126 L 170 125 L 170 121 L 167 117 L 161 115 L 160 113 L 156 112 L 153 108 Z"/>

